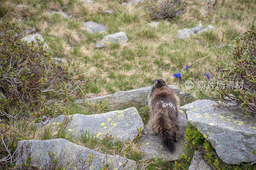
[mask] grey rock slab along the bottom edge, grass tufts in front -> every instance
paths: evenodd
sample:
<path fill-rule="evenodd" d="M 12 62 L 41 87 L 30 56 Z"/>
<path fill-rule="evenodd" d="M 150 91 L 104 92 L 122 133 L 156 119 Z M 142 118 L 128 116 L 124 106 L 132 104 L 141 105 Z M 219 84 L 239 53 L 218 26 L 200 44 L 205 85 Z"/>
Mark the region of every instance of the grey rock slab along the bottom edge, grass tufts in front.
<path fill-rule="evenodd" d="M 26 150 L 26 146 L 28 150 Z M 92 164 L 89 165 L 86 170 L 99 170 L 103 168 L 103 165 L 110 163 L 111 169 L 117 169 L 120 165 L 124 165 L 128 160 L 127 164 L 120 169 L 129 169 L 135 170 L 136 162 L 134 160 L 126 159 L 121 156 L 113 156 L 102 154 L 100 152 L 93 151 L 84 146 L 76 145 L 69 142 L 66 139 L 52 139 L 52 140 L 22 140 L 17 144 L 18 151 L 16 154 L 16 159 L 20 160 L 16 162 L 16 165 L 20 167 L 23 166 L 23 163 L 28 160 L 28 156 L 31 158 L 34 166 L 38 166 L 39 169 L 48 170 L 54 166 L 55 158 L 58 159 L 59 164 L 58 168 L 70 168 L 70 169 L 84 169 L 89 165 L 89 162 L 86 161 L 84 166 L 81 162 L 84 160 L 89 160 L 89 154 L 94 156 Z M 48 153 L 50 151 L 50 154 Z M 55 157 L 51 159 L 52 154 L 55 154 Z"/>

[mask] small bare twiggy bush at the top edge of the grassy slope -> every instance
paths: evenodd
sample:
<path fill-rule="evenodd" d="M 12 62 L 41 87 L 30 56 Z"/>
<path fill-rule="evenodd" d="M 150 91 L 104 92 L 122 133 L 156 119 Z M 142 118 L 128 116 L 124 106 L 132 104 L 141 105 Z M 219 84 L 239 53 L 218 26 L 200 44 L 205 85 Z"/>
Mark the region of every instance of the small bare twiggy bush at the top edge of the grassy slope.
<path fill-rule="evenodd" d="M 160 19 L 172 19 L 173 17 L 180 16 L 187 11 L 188 3 L 182 0 L 164 0 L 154 1 L 149 0 L 148 4 L 149 12 L 156 18 Z"/>

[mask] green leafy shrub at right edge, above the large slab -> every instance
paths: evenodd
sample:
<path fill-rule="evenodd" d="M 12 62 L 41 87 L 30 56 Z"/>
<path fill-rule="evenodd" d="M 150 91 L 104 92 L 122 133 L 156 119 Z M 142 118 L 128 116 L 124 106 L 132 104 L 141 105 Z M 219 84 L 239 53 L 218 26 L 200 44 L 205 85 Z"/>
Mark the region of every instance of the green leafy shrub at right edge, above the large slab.
<path fill-rule="evenodd" d="M 230 61 L 217 55 L 212 75 L 218 80 L 208 91 L 213 100 L 228 109 L 256 113 L 256 29 L 252 26 L 241 37 L 237 37 L 229 51 Z M 221 87 L 220 87 L 221 85 Z M 223 107 L 221 107 L 223 108 Z"/>

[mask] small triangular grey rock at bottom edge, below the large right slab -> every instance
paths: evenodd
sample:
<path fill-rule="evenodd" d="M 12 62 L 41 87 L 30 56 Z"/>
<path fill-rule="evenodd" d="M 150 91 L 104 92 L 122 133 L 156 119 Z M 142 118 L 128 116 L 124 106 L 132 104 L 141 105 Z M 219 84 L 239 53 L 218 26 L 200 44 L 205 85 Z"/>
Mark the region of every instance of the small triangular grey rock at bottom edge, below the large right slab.
<path fill-rule="evenodd" d="M 188 170 L 212 170 L 212 166 L 204 160 L 201 152 L 196 150 Z"/>

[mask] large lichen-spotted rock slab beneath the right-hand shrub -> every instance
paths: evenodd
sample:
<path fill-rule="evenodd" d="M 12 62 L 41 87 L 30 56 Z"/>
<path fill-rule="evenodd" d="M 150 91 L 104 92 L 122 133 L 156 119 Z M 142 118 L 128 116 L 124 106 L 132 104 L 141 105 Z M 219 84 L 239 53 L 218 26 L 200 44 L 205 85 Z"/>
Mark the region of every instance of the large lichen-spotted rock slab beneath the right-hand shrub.
<path fill-rule="evenodd" d="M 225 163 L 255 162 L 256 156 L 250 153 L 256 148 L 256 115 L 214 110 L 213 105 L 212 100 L 196 100 L 181 109 Z"/>

